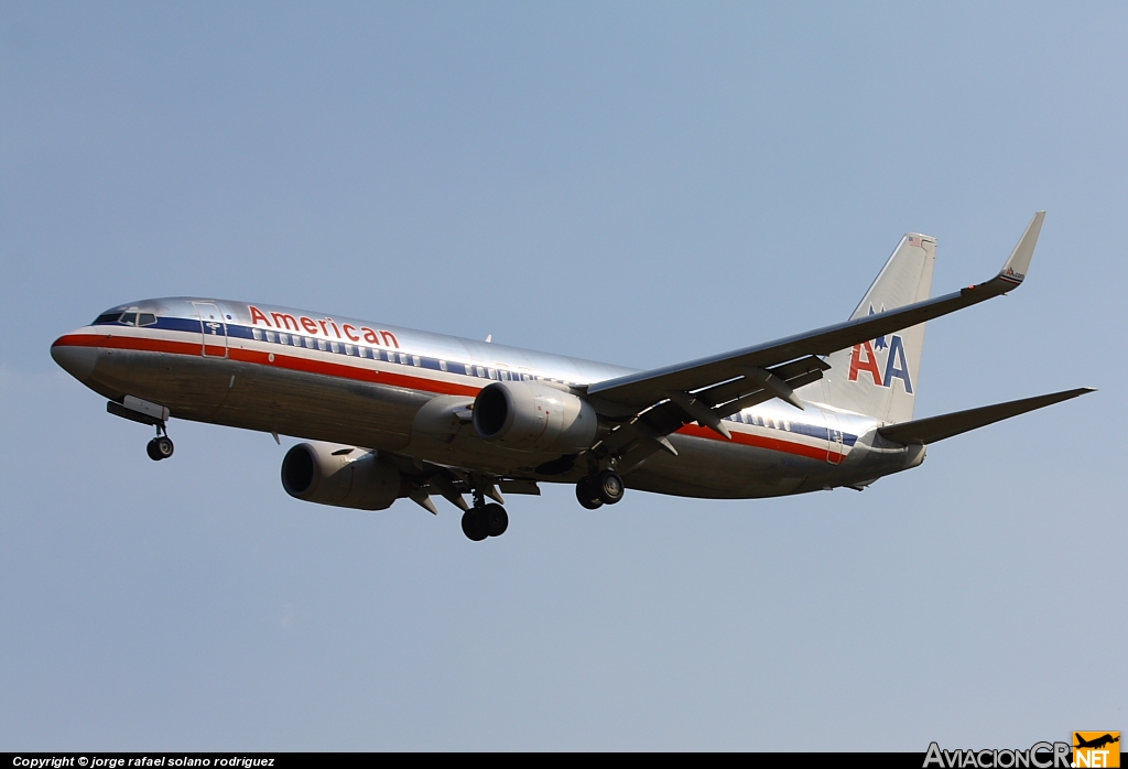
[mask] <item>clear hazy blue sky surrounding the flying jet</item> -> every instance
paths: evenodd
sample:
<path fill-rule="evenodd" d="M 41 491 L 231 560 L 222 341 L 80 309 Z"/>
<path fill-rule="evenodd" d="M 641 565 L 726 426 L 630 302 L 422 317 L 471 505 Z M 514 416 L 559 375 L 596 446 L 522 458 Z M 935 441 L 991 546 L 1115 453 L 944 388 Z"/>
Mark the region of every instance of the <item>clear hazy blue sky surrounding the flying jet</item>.
<path fill-rule="evenodd" d="M 0 1 L 0 750 L 899 749 L 1128 731 L 1122 3 Z M 651 368 L 845 319 L 901 233 L 917 416 L 1100 392 L 856 493 L 298 502 L 51 361 L 274 302 Z"/>

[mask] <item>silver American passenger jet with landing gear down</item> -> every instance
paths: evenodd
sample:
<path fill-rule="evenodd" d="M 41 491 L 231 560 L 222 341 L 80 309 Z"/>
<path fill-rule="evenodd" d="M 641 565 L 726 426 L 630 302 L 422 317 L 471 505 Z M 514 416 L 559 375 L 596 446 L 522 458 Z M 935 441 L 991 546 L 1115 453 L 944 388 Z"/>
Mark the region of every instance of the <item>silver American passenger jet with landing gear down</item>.
<path fill-rule="evenodd" d="M 173 456 L 171 417 L 303 439 L 282 460 L 291 496 L 434 514 L 441 497 L 474 541 L 508 529 L 503 492 L 539 483 L 573 484 L 589 510 L 626 488 L 862 490 L 932 443 L 1093 391 L 913 418 L 925 322 L 1021 285 L 1045 214 L 984 283 L 931 299 L 936 239 L 910 232 L 845 322 L 650 371 L 191 297 L 114 307 L 51 355 L 111 414 L 156 427 L 153 460 Z"/>

